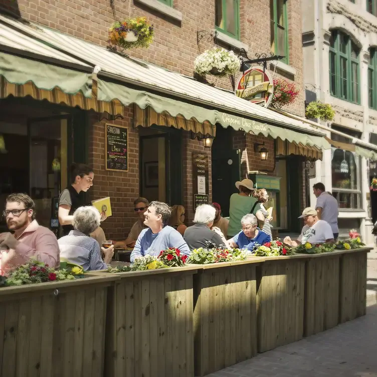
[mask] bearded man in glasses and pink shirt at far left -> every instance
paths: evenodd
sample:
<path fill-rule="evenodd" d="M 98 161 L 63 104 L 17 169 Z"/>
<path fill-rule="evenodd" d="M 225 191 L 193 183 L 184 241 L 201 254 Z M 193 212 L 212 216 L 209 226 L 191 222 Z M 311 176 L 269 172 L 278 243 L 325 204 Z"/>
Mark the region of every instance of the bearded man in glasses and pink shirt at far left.
<path fill-rule="evenodd" d="M 50 267 L 60 265 L 58 241 L 48 228 L 35 220 L 35 203 L 26 194 L 11 194 L 3 216 L 12 233 L 0 234 L 0 275 L 35 258 Z"/>

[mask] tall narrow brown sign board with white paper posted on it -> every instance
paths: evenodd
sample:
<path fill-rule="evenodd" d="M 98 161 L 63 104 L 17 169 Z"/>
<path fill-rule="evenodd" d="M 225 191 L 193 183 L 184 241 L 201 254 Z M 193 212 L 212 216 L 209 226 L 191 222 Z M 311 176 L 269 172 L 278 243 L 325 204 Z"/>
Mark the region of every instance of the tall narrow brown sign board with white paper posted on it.
<path fill-rule="evenodd" d="M 206 153 L 193 152 L 193 192 L 195 208 L 209 202 L 209 158 Z"/>

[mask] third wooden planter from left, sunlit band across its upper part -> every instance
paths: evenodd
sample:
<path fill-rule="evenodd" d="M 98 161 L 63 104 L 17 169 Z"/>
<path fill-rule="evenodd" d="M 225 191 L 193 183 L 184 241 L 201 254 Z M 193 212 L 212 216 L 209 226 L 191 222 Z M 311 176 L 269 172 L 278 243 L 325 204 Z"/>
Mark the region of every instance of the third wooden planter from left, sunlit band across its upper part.
<path fill-rule="evenodd" d="M 196 265 L 195 375 L 257 354 L 256 266 L 260 260 Z"/>

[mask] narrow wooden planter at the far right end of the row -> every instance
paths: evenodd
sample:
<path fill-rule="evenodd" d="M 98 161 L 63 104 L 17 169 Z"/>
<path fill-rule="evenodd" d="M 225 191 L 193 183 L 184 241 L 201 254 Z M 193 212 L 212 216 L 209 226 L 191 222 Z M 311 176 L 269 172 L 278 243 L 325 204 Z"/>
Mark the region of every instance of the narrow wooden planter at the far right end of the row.
<path fill-rule="evenodd" d="M 370 248 L 343 251 L 340 258 L 339 323 L 366 313 L 366 262 Z"/>

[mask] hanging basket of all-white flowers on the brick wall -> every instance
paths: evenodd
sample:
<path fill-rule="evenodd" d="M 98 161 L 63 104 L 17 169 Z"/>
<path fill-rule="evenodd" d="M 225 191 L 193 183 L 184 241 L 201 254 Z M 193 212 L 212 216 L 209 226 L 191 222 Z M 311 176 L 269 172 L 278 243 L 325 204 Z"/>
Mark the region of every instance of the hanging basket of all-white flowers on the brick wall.
<path fill-rule="evenodd" d="M 215 76 L 234 75 L 240 70 L 240 59 L 233 51 L 214 47 L 199 55 L 194 62 L 195 72 L 201 76 L 211 74 Z"/>

